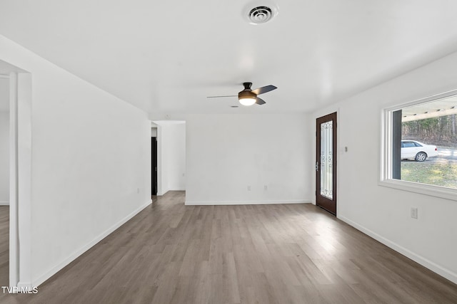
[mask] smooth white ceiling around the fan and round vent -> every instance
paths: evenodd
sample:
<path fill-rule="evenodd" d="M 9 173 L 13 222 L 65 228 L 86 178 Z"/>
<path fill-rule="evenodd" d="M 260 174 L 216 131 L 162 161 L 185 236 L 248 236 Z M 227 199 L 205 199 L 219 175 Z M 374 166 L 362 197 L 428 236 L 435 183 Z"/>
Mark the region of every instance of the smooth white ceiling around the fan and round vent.
<path fill-rule="evenodd" d="M 149 112 L 309 111 L 457 51 L 455 0 L 0 0 L 0 34 Z M 276 85 L 230 108 L 241 83 Z"/>

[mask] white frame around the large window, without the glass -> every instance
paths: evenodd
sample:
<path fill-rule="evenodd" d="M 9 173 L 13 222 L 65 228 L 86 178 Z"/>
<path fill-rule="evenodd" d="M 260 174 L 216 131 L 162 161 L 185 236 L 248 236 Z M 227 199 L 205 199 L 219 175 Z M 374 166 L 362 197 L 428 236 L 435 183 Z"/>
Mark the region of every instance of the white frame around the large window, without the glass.
<path fill-rule="evenodd" d="M 422 184 L 418 182 L 408 182 L 401 179 L 392 178 L 392 132 L 393 118 L 392 113 L 396 110 L 418 105 L 420 103 L 429 103 L 435 100 L 450 98 L 457 95 L 456 90 L 450 90 L 444 93 L 431 95 L 427 98 L 413 100 L 408 103 L 397 104 L 381 110 L 381 159 L 380 159 L 380 174 L 378 185 L 390 187 L 418 194 L 440 197 L 443 199 L 451 199 L 457 201 L 457 189 L 448 187 L 435 186 L 432 184 Z"/>

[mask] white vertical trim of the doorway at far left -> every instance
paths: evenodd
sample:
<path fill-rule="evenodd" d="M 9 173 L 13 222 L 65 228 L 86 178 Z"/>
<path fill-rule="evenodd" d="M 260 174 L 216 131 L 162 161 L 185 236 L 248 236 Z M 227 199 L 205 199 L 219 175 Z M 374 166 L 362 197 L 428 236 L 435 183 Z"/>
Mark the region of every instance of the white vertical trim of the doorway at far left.
<path fill-rule="evenodd" d="M 9 285 L 31 287 L 31 74 L 11 72 Z"/>

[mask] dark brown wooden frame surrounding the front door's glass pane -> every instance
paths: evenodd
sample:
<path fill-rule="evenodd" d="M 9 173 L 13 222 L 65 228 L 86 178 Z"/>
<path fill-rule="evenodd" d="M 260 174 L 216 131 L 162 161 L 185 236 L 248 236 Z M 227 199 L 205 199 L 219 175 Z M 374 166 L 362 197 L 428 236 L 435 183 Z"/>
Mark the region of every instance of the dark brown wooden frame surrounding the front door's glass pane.
<path fill-rule="evenodd" d="M 321 195 L 321 124 L 324 122 L 333 121 L 333 148 L 332 148 L 332 177 L 333 189 L 332 199 Z M 338 147 L 336 145 L 337 132 L 336 132 L 336 112 L 318 117 L 316 119 L 316 204 L 322 209 L 336 215 L 336 157 L 338 154 Z"/>

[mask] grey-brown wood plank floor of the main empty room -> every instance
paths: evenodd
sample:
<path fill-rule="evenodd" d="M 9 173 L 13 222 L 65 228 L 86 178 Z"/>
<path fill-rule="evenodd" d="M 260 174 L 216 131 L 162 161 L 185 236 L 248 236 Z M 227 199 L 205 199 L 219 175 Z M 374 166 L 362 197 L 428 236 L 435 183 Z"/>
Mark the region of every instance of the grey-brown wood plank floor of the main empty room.
<path fill-rule="evenodd" d="M 1 303 L 457 303 L 457 285 L 311 204 L 159 197 L 39 286 Z"/>

